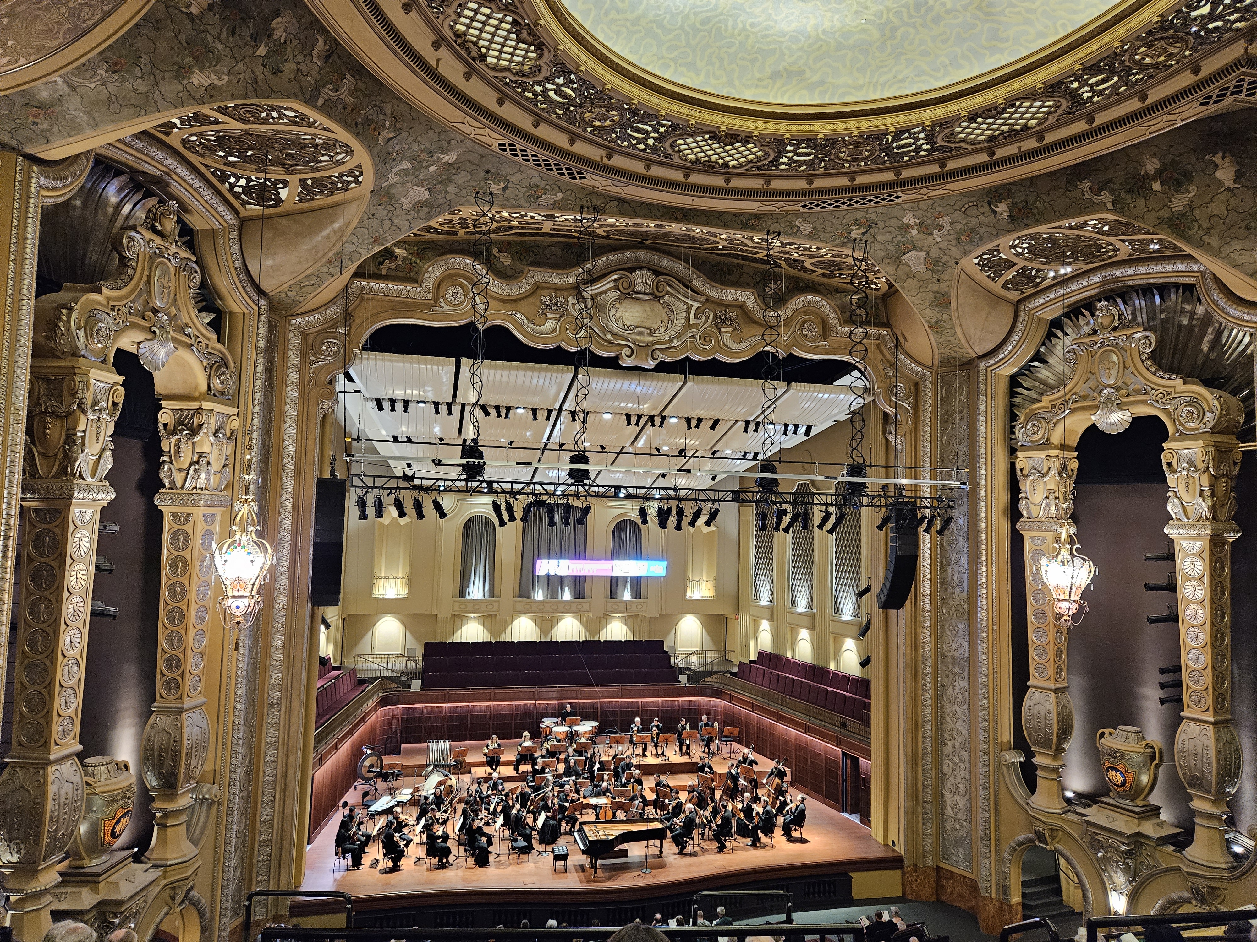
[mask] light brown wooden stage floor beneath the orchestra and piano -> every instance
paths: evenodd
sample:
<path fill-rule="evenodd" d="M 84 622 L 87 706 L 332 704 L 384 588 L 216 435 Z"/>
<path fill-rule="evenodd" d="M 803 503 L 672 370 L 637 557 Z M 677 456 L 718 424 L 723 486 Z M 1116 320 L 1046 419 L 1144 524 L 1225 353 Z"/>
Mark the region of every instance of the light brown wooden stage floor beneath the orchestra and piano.
<path fill-rule="evenodd" d="M 459 742 L 455 746 L 469 746 L 469 756 L 473 761 L 473 774 L 478 777 L 484 774 L 480 749 L 483 742 Z M 514 750 L 505 747 L 502 769 L 503 776 L 509 782 L 517 780 L 512 775 L 512 761 Z M 403 746 L 402 760 L 406 769 L 419 764 L 424 746 Z M 755 756 L 759 760 L 758 771 L 760 777 L 772 767 L 772 760 L 764 756 Z M 647 782 L 654 781 L 657 760 L 640 756 L 636 760 L 642 769 L 642 777 Z M 713 762 L 718 771 L 723 771 L 728 765 L 728 759 L 716 756 Z M 685 756 L 670 756 L 669 780 L 672 785 L 684 786 L 693 781 L 695 760 Z M 405 780 L 406 786 L 415 784 L 414 779 Z M 465 789 L 468 775 L 459 776 L 459 784 Z M 792 790 L 792 794 L 793 790 Z M 361 801 L 362 791 L 351 791 L 346 800 L 352 804 Z M 405 811 L 403 811 L 405 813 Z M 451 815 L 451 820 L 454 815 Z M 338 818 L 337 818 L 338 820 Z M 590 820 L 586 815 L 586 820 Z M 378 844 L 368 848 L 363 857 L 361 870 L 346 870 L 343 864 L 336 860 L 336 826 L 328 823 L 316 836 L 314 843 L 305 854 L 305 879 L 303 889 L 334 889 L 351 893 L 354 897 L 354 907 L 361 909 L 401 909 L 407 907 L 426 906 L 474 906 L 483 903 L 502 904 L 507 902 L 527 902 L 538 896 L 553 898 L 554 893 L 572 903 L 573 897 L 588 894 L 591 899 L 601 902 L 641 899 L 644 897 L 665 897 L 685 894 L 699 891 L 720 889 L 740 884 L 799 879 L 806 877 L 833 875 L 835 873 L 852 873 L 861 870 L 899 870 L 903 868 L 900 854 L 874 840 L 867 828 L 852 821 L 846 815 L 828 808 L 817 799 L 810 798 L 807 803 L 807 825 L 802 836 L 796 834 L 796 839 L 787 842 L 778 828 L 776 847 L 750 848 L 742 844 L 729 844 L 727 852 L 716 853 L 715 842 L 708 836 L 699 845 L 698 854 L 678 854 L 671 840 L 664 842 L 664 857 L 659 857 L 659 844 L 652 845 L 650 853 L 651 873 L 642 873 L 646 865 L 646 845 L 637 843 L 628 845 L 627 858 L 603 858 L 598 864 L 598 874 L 593 875 L 593 867 L 576 847 L 576 839 L 569 834 L 563 834 L 559 843 L 568 844 L 567 873 L 562 868 L 553 869 L 553 857 L 539 857 L 535 853 L 525 857 L 523 862 L 515 863 L 514 858 L 499 848 L 499 840 L 494 842 L 494 849 L 500 849 L 500 857 L 490 855 L 490 865 L 478 868 L 471 863 L 464 867 L 465 860 L 459 857 L 446 869 L 427 869 L 426 863 L 415 863 L 414 857 L 407 857 L 400 870 L 382 874 L 367 864 L 376 855 Z M 446 825 L 453 834 L 453 826 Z M 451 840 L 450 847 L 455 853 L 461 853 L 461 848 Z M 417 853 L 416 845 L 411 848 Z"/>

